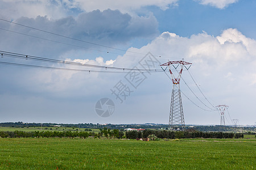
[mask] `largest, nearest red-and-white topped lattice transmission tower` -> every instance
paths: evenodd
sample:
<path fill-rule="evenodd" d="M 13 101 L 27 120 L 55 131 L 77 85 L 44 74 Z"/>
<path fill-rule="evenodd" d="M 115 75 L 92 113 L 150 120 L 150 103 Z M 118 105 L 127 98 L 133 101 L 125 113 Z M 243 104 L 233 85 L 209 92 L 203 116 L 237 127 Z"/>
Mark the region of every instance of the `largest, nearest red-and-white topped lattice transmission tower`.
<path fill-rule="evenodd" d="M 172 77 L 172 84 L 173 84 L 171 107 L 170 107 L 170 114 L 169 114 L 169 129 L 170 128 L 175 129 L 175 126 L 181 126 L 181 129 L 183 130 L 185 127 L 183 107 L 182 107 L 182 101 L 181 101 L 181 95 L 180 95 L 180 78 L 181 78 L 184 65 L 191 66 L 192 63 L 185 62 L 185 61 L 168 61 L 167 63 L 163 63 L 162 65 L 160 65 L 160 66 L 169 67 L 169 71 Z M 172 66 L 175 68 L 175 70 L 177 70 L 177 67 L 180 66 L 180 71 L 177 71 L 178 74 L 176 76 L 171 71 Z M 185 66 L 187 70 L 189 69 L 189 67 Z M 163 70 L 165 71 L 166 69 L 163 69 Z"/>

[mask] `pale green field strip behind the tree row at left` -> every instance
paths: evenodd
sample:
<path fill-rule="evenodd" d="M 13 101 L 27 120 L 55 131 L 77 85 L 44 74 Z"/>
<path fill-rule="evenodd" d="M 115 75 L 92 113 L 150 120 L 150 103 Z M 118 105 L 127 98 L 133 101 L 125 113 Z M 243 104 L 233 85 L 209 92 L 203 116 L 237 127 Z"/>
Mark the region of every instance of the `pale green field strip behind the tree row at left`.
<path fill-rule="evenodd" d="M 76 131 L 76 129 L 79 130 L 79 128 L 66 128 L 66 127 L 42 127 L 42 131 Z M 85 129 L 90 128 L 80 128 L 80 131 L 84 131 Z M 10 127 L 0 127 L 0 131 L 41 131 L 41 127 L 24 127 L 24 128 L 10 128 Z M 92 132 L 100 132 L 100 129 L 92 129 Z M 89 131 L 88 131 L 89 132 Z"/>

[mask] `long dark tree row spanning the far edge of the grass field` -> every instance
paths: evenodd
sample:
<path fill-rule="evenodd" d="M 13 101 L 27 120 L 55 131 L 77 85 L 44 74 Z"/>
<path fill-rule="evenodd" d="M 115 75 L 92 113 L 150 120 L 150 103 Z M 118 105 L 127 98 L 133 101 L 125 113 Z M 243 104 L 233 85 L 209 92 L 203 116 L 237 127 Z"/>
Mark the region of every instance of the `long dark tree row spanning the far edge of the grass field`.
<path fill-rule="evenodd" d="M 170 131 L 170 130 L 144 130 L 142 131 L 123 131 L 118 129 L 100 129 L 99 133 L 88 131 L 0 131 L 1 138 L 127 138 L 127 139 L 138 139 L 148 138 L 150 135 L 154 135 L 156 138 L 167 138 L 167 139 L 181 139 L 181 138 L 243 138 L 243 134 L 234 133 L 222 133 L 222 132 L 202 132 L 202 131 Z"/>

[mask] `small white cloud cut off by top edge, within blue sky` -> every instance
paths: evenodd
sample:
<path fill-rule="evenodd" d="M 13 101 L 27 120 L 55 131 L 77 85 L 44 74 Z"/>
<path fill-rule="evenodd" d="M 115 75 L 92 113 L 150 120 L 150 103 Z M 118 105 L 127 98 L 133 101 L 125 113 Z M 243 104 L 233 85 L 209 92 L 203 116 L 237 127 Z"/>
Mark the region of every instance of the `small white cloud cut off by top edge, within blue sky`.
<path fill-rule="evenodd" d="M 236 3 L 239 0 L 196 0 L 199 1 L 202 5 L 210 5 L 220 9 L 228 7 L 232 3 Z"/>

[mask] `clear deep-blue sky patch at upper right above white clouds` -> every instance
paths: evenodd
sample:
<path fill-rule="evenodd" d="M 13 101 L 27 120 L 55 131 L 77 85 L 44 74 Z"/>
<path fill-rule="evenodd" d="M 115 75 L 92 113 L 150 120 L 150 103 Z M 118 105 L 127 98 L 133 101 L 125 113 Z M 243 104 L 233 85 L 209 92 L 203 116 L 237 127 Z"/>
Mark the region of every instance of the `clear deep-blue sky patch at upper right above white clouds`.
<path fill-rule="evenodd" d="M 237 28 L 246 36 L 255 38 L 255 1 L 239 1 L 224 9 L 202 6 L 195 1 L 179 1 L 179 6 L 166 11 L 156 11 L 159 31 L 175 32 L 189 37 L 205 31 L 210 35 L 220 35 L 227 28 Z M 166 22 L 168 21 L 168 22 Z"/>

